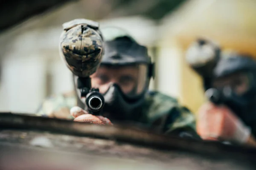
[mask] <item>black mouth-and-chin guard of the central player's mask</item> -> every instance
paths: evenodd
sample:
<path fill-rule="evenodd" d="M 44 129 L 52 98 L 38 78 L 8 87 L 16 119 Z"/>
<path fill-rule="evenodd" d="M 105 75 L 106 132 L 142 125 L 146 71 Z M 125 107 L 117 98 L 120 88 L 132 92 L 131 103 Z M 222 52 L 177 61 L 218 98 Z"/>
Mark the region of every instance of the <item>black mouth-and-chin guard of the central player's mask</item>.
<path fill-rule="evenodd" d="M 103 94 L 105 106 L 103 112 L 109 119 L 132 120 L 133 116 L 139 116 L 141 105 L 144 102 L 144 94 L 130 97 L 124 94 L 117 84 L 112 84 L 108 91 Z"/>

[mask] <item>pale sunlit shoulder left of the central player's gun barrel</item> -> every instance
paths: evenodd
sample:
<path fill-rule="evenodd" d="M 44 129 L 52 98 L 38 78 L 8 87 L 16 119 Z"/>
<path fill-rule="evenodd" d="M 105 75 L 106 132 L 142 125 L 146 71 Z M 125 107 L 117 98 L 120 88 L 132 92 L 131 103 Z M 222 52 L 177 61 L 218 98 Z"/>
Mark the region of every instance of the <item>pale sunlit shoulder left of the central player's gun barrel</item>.
<path fill-rule="evenodd" d="M 42 116 L 49 116 L 54 112 L 62 110 L 63 108 L 68 110 L 73 106 L 76 106 L 76 100 L 76 93 L 74 91 L 52 95 L 42 102 L 40 108 L 37 111 L 37 114 Z"/>

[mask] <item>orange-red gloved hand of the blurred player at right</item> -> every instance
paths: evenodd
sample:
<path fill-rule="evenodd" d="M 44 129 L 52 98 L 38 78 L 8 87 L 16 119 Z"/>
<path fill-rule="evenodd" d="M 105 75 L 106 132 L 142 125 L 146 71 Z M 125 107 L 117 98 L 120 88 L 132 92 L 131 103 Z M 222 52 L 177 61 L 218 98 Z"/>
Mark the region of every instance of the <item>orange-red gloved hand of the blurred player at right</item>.
<path fill-rule="evenodd" d="M 226 106 L 208 102 L 198 112 L 197 132 L 204 140 L 223 140 L 244 144 L 250 138 L 250 128 Z"/>

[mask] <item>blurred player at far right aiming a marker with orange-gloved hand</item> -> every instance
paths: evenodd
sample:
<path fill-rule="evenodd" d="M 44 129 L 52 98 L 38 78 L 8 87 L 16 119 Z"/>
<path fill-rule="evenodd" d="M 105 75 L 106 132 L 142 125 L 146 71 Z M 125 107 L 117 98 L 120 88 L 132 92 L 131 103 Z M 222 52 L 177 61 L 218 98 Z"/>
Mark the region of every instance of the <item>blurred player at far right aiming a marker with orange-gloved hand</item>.
<path fill-rule="evenodd" d="M 256 147 L 256 62 L 198 39 L 187 51 L 188 64 L 204 82 L 209 99 L 198 110 L 197 132 L 205 140 Z"/>

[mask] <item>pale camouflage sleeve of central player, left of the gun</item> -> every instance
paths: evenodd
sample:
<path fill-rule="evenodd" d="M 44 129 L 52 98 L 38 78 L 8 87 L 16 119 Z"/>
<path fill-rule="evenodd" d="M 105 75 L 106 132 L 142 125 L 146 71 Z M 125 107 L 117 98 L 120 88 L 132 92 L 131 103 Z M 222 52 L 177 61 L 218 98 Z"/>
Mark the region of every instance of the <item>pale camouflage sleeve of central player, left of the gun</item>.
<path fill-rule="evenodd" d="M 49 97 L 36 111 L 37 116 L 47 116 L 59 119 L 73 119 L 70 109 L 76 106 L 76 98 L 72 94 L 61 94 Z"/>

